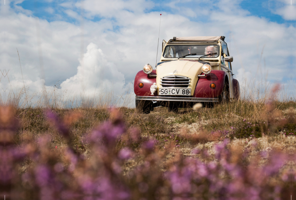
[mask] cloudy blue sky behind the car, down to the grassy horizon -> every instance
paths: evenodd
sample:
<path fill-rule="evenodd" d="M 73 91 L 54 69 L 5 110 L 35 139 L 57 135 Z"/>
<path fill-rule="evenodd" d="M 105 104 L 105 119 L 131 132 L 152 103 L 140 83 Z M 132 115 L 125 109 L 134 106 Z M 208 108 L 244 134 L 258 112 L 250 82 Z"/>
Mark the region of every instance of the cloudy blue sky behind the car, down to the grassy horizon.
<path fill-rule="evenodd" d="M 159 44 L 225 36 L 242 88 L 280 83 L 293 96 L 295 22 L 296 0 L 0 0 L 1 98 L 24 85 L 37 96 L 134 95 L 136 73 L 160 59 L 159 23 Z"/>

